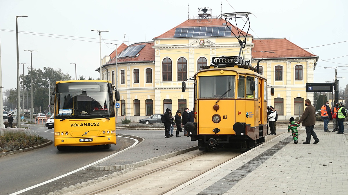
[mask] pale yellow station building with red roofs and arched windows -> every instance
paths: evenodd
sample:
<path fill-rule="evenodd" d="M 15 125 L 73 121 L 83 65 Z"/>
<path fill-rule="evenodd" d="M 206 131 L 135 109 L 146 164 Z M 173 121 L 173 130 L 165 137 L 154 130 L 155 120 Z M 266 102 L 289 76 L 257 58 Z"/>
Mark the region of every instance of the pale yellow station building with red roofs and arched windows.
<path fill-rule="evenodd" d="M 232 26 L 232 27 L 231 27 Z M 188 19 L 153 38 L 153 41 L 125 45 L 102 59 L 102 79 L 116 84 L 120 91 L 118 122 L 124 118 L 139 121 L 152 114 L 193 108 L 193 77 L 201 66 L 209 66 L 212 57 L 237 56 L 240 45 L 231 34 L 235 27 L 224 19 Z M 246 33 L 243 32 L 245 35 Z M 278 112 L 278 119 L 289 119 L 303 113 L 304 100 L 313 100 L 306 93 L 306 83 L 313 83 L 318 56 L 285 38 L 256 39 L 247 34 L 242 56 L 251 60 L 267 76 L 267 84 L 275 88 L 268 96 L 268 105 Z M 99 68 L 97 69 L 99 71 Z M 269 89 L 270 91 L 270 89 Z M 269 93 L 270 94 L 270 93 Z"/>

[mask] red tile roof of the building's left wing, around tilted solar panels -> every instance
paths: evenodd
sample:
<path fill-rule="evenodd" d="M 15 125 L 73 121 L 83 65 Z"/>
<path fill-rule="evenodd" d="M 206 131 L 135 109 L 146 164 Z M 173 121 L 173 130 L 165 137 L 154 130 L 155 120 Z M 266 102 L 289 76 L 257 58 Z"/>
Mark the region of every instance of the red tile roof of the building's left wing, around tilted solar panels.
<path fill-rule="evenodd" d="M 129 57 L 121 57 L 117 58 L 117 63 L 122 63 L 122 62 L 136 62 L 136 61 L 155 61 L 155 49 L 152 48 L 153 45 L 155 45 L 154 42 L 142 42 L 142 43 L 134 43 L 130 46 L 134 45 L 145 45 L 143 49 L 139 51 L 139 56 L 129 56 Z M 121 46 L 121 45 L 120 45 Z M 122 50 L 123 51 L 123 50 Z M 118 53 L 118 48 L 117 48 L 117 53 Z M 121 52 L 120 52 L 121 53 Z M 118 53 L 118 54 L 120 54 Z M 116 58 L 112 58 L 110 61 L 106 62 L 105 65 L 109 64 L 114 64 L 116 63 Z"/>

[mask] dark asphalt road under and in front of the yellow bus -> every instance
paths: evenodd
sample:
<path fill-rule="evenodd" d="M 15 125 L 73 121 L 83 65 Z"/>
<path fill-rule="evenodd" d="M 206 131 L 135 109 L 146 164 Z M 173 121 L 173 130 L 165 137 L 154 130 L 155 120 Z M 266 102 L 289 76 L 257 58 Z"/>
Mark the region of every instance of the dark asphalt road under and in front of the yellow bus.
<path fill-rule="evenodd" d="M 46 127 L 30 128 L 40 136 L 54 141 L 53 129 L 48 130 Z M 111 145 L 111 148 L 107 150 L 102 149 L 102 147 L 88 146 L 74 147 L 69 151 L 62 152 L 58 151 L 52 144 L 41 149 L 2 156 L 0 158 L 0 194 L 15 193 L 64 175 L 123 150 L 134 142 L 132 139 L 118 137 L 117 145 Z M 114 171 L 93 171 L 87 168 L 22 194 L 47 194 L 112 172 Z"/>

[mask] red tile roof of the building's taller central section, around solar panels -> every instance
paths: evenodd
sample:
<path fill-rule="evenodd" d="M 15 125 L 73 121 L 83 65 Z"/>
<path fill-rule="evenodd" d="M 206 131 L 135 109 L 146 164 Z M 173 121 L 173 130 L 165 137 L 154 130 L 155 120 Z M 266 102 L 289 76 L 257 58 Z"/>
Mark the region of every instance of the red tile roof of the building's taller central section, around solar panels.
<path fill-rule="evenodd" d="M 209 21 L 207 19 L 188 19 L 185 22 L 175 26 L 174 28 L 170 29 L 169 31 L 153 38 L 153 39 L 168 39 L 168 38 L 174 38 L 174 33 L 175 33 L 175 29 L 176 28 L 180 28 L 180 27 L 202 27 L 202 26 L 223 26 L 222 24 L 226 23 L 226 21 L 222 18 L 220 19 L 216 19 L 216 18 L 209 18 Z M 234 25 L 232 25 L 231 23 L 228 24 L 228 26 L 233 26 L 232 27 L 232 32 L 235 33 L 236 35 L 238 35 L 237 29 Z M 240 29 L 238 28 L 238 30 L 240 31 Z M 242 34 L 245 35 L 246 32 L 242 31 Z M 248 34 L 251 36 L 251 34 Z M 231 33 L 231 36 L 234 36 Z M 177 37 L 179 38 L 179 37 Z M 181 37 L 182 38 L 182 37 Z"/>

